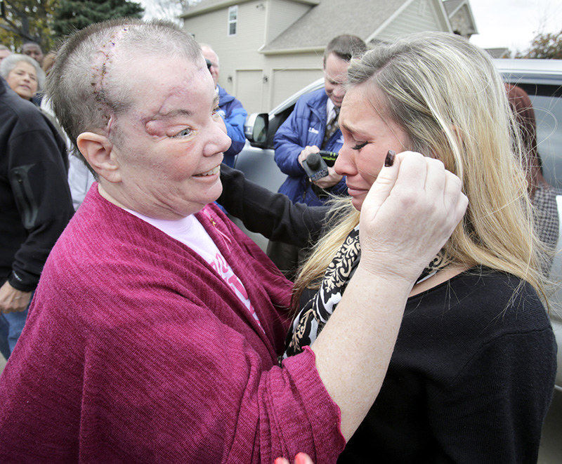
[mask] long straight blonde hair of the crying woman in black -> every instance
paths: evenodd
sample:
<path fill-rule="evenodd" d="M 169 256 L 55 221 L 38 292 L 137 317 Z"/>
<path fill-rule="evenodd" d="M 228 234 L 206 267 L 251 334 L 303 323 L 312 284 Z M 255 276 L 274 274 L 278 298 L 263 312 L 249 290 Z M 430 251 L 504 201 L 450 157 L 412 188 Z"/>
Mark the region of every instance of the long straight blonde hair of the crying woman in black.
<path fill-rule="evenodd" d="M 442 265 L 506 271 L 544 296 L 543 248 L 533 231 L 519 161 L 521 140 L 488 54 L 454 34 L 414 34 L 352 60 L 348 82 L 378 89 L 385 100 L 377 102 L 379 107 L 386 107 L 386 117 L 407 133 L 409 149 L 440 159 L 462 180 L 469 207 L 440 252 Z M 349 199 L 334 201 L 334 208 L 340 213 L 296 278 L 295 307 L 304 289 L 318 288 L 334 254 L 359 223 Z"/>

